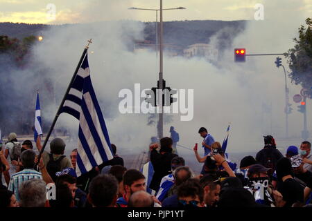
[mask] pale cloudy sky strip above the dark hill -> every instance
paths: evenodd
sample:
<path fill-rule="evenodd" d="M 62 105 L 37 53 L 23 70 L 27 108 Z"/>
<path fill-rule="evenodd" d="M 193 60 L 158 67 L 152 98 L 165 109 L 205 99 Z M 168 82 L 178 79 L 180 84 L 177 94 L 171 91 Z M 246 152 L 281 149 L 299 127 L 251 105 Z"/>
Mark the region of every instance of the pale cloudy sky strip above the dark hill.
<path fill-rule="evenodd" d="M 272 3 L 274 2 L 274 3 Z M 285 3 L 287 2 L 287 3 Z M 300 2 L 300 4 L 298 4 Z M 165 0 L 164 8 L 186 10 L 164 12 L 164 21 L 253 19 L 254 6 L 262 3 L 266 10 L 312 14 L 312 0 Z M 266 8 L 266 6 L 268 6 Z M 152 0 L 0 0 L 0 22 L 88 23 L 107 20 L 155 21 L 155 12 L 128 10 L 130 7 L 159 8 Z M 53 16 L 55 9 L 55 17 Z M 266 15 L 266 14 L 265 14 Z M 266 18 L 266 17 L 265 17 Z"/>

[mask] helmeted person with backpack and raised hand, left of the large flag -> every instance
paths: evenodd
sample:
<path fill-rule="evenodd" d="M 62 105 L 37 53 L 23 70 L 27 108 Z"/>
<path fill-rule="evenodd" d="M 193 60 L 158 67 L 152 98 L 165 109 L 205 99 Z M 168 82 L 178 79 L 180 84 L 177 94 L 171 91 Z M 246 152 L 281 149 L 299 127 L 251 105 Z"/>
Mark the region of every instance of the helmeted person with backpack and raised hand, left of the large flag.
<path fill-rule="evenodd" d="M 40 142 L 40 137 L 37 139 L 38 151 L 41 151 L 42 146 Z M 55 138 L 50 143 L 50 153 L 43 151 L 42 158 L 44 165 L 46 165 L 46 170 L 51 176 L 52 180 L 56 182 L 58 178 L 55 173 L 63 171 L 64 169 L 73 166 L 71 165 L 71 160 L 64 155 L 65 142 L 61 138 Z"/>

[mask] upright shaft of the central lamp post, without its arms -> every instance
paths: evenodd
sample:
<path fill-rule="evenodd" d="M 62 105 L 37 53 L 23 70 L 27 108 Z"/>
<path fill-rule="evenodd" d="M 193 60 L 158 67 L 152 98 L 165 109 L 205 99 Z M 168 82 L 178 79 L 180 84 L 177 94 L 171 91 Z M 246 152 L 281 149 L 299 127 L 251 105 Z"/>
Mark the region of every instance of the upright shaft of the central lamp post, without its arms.
<path fill-rule="evenodd" d="M 163 137 L 164 115 L 162 106 L 162 80 L 163 80 L 163 26 L 162 26 L 162 0 L 160 0 L 160 36 L 159 36 L 159 139 Z"/>

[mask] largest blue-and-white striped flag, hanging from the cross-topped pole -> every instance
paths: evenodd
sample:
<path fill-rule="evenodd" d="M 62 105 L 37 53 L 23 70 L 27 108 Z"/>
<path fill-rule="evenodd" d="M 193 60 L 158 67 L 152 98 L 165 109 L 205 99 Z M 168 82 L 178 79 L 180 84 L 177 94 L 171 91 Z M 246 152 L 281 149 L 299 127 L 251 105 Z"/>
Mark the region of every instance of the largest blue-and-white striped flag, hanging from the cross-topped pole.
<path fill-rule="evenodd" d="M 60 112 L 69 113 L 79 120 L 76 166 L 78 177 L 95 166 L 112 160 L 110 137 L 92 86 L 87 55 Z"/>

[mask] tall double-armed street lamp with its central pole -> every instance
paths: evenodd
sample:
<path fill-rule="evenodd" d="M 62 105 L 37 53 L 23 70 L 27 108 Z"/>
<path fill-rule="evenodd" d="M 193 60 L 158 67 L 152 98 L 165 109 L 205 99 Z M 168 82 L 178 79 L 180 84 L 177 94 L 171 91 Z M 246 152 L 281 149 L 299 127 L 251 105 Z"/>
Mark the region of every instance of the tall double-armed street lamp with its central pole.
<path fill-rule="evenodd" d="M 159 102 L 159 122 L 158 122 L 158 137 L 161 139 L 163 137 L 163 124 L 164 124 L 164 108 L 162 106 L 162 84 L 163 84 L 163 45 L 162 45 L 162 35 L 163 35 L 163 26 L 162 26 L 162 11 L 163 10 L 180 10 L 180 9 L 187 9 L 184 7 L 177 7 L 177 8 L 162 8 L 162 0 L 160 0 L 160 7 L 159 9 L 153 9 L 153 8 L 128 8 L 129 10 L 149 10 L 149 11 L 155 11 L 156 12 L 156 48 L 158 46 L 158 11 L 160 12 L 160 37 L 159 37 L 159 96 L 160 101 Z M 158 58 L 158 48 L 156 49 L 156 57 Z"/>

